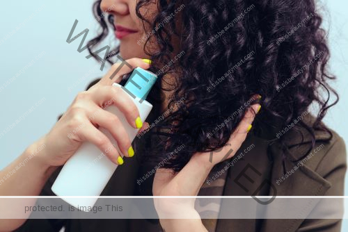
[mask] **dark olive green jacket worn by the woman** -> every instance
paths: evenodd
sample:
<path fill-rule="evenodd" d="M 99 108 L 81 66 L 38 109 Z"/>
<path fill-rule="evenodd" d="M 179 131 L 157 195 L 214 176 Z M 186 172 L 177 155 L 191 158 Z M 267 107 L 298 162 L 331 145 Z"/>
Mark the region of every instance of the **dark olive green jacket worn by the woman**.
<path fill-rule="evenodd" d="M 311 120 L 309 118 L 308 120 Z M 329 134 L 316 131 L 316 149 L 315 155 L 311 156 L 303 165 L 299 167 L 287 179 L 281 180 L 281 176 L 296 165 L 296 160 L 301 159 L 303 152 L 310 147 L 310 138 L 305 134 L 304 141 L 308 144 L 294 146 L 290 149 L 292 156 L 283 158 L 283 152 L 276 144 L 270 145 L 272 136 L 279 132 L 271 126 L 264 125 L 258 133 L 251 131 L 250 135 L 237 151 L 244 151 L 252 144 L 253 149 L 247 152 L 241 160 L 238 160 L 233 167 L 228 169 L 228 178 L 223 191 L 225 196 L 250 196 L 258 190 L 260 185 L 266 179 L 272 185 L 276 186 L 276 194 L 278 196 L 342 196 L 344 195 L 344 183 L 346 172 L 346 151 L 345 144 L 334 131 L 333 137 L 329 142 L 324 140 L 329 138 Z M 289 146 L 301 142 L 301 136 L 294 132 L 285 133 L 286 141 Z M 320 148 L 320 149 L 319 149 Z M 252 176 L 253 181 L 246 178 L 236 179 L 247 165 L 252 165 L 258 174 L 248 174 Z M 143 176 L 148 169 L 152 167 L 144 167 L 139 165 L 135 158 L 125 158 L 125 164 L 118 167 L 113 177 L 109 181 L 103 195 L 106 196 L 130 196 L 139 194 L 139 185 L 136 180 L 139 176 Z M 43 195 L 53 195 L 51 185 L 58 174 L 52 175 L 47 181 Z M 153 177 L 153 176 L 152 176 Z M 240 177 L 240 176 L 239 176 Z M 278 183 L 277 183 L 278 181 Z M 141 192 L 151 194 L 152 179 L 141 184 Z M 273 195 L 274 191 L 270 185 L 263 185 L 258 190 L 258 195 Z M 315 209 L 316 203 L 313 201 L 303 208 L 303 212 L 310 213 Z M 221 204 L 222 210 L 229 210 L 228 204 Z M 299 219 L 218 219 L 216 231 L 340 231 L 341 219 L 303 219 L 305 215 L 301 215 Z M 158 221 L 155 219 L 29 219 L 18 231 L 59 231 L 65 226 L 65 231 L 161 231 Z"/>

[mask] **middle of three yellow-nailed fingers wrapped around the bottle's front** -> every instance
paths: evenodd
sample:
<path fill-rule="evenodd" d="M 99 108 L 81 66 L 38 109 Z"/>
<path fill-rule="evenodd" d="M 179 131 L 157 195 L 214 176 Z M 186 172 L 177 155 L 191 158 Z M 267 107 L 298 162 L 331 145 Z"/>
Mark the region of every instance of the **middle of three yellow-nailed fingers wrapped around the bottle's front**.
<path fill-rule="evenodd" d="M 97 124 L 97 126 L 101 126 L 109 131 L 116 140 L 118 148 L 124 156 L 134 156 L 134 149 L 129 140 L 127 131 L 116 115 L 100 109 L 100 113 L 98 113 L 96 117 L 90 118 L 90 122 L 93 122 L 93 124 Z"/>

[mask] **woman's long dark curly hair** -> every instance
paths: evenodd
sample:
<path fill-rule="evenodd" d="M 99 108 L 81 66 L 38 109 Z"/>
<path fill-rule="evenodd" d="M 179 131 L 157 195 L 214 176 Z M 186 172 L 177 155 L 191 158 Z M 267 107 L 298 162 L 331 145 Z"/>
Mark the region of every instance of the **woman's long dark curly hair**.
<path fill-rule="evenodd" d="M 102 15 L 100 2 L 94 4 L 96 18 Z M 161 114 L 163 96 L 159 90 L 168 90 L 161 85 L 164 76 L 173 74 L 177 84 L 171 88 L 174 93 L 168 105 L 168 108 L 175 106 L 175 110 L 144 135 L 150 146 L 146 150 L 147 160 L 158 162 L 176 151 L 164 167 L 179 171 L 194 153 L 223 147 L 255 94 L 262 96 L 262 110 L 255 119 L 255 129 L 260 120 L 269 118 L 277 119 L 283 128 L 316 103 L 315 122 L 301 121 L 291 130 L 308 131 L 312 137 L 311 149 L 316 130 L 332 137 L 322 119 L 337 103 L 338 94 L 327 83 L 335 76 L 327 72 L 330 55 L 326 32 L 321 27 L 322 17 L 316 12 L 314 0 L 159 0 L 157 15 L 145 19 L 139 10 L 149 2 L 140 0 L 136 12 L 143 20 L 144 29 L 150 27 L 150 31 L 156 31 L 144 46 L 152 60 L 151 70 L 163 71 L 156 88 L 150 92 L 149 101 L 155 106 L 150 124 Z M 180 6 L 182 10 L 177 13 Z M 161 25 L 173 15 L 174 19 Z M 99 22 L 102 32 L 88 43 L 92 54 L 113 27 L 113 16 Z M 173 44 L 175 37 L 179 38 L 179 49 L 184 56 L 163 70 L 177 52 Z M 156 51 L 148 49 L 150 41 L 155 42 Z M 116 48 L 114 53 L 118 51 Z M 329 101 L 331 94 L 335 95 L 333 102 Z M 175 105 L 180 99 L 184 103 Z M 202 117 L 207 115 L 216 117 Z M 225 126 L 214 130 L 223 122 Z M 153 136 L 161 142 L 151 143 Z M 287 151 L 284 140 L 274 138 L 271 143 L 278 142 Z M 190 145 L 198 143 L 201 145 Z M 182 144 L 184 149 L 175 150 Z"/>

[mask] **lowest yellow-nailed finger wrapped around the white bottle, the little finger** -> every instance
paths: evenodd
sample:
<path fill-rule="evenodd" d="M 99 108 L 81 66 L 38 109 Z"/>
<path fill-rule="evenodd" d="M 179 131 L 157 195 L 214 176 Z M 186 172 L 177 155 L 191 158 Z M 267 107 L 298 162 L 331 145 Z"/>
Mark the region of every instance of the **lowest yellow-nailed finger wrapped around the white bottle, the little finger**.
<path fill-rule="evenodd" d="M 109 138 L 107 138 L 102 131 L 96 129 L 90 122 L 86 123 L 84 129 L 81 129 L 78 135 L 81 140 L 95 144 L 95 146 L 97 146 L 113 163 L 122 165 L 123 159 L 116 147 L 113 146 Z"/>

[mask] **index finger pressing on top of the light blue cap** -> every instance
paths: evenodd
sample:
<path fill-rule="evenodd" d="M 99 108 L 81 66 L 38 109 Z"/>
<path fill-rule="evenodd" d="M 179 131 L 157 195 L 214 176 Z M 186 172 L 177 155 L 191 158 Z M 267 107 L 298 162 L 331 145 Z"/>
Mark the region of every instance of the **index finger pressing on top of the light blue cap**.
<path fill-rule="evenodd" d="M 120 60 L 119 63 L 113 64 L 109 72 L 97 83 L 97 85 L 112 85 L 113 83 L 120 83 L 122 76 L 132 72 L 136 67 L 148 69 L 150 64 L 146 59 L 132 58 L 129 60 Z"/>

